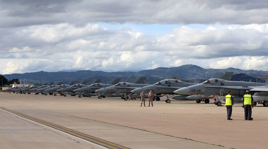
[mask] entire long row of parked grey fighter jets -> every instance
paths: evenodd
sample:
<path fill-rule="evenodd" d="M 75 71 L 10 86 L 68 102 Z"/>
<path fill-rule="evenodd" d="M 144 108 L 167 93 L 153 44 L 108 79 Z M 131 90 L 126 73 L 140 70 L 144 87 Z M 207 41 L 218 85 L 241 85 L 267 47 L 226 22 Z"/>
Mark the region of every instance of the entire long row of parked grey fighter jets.
<path fill-rule="evenodd" d="M 148 94 L 152 91 L 155 94 L 155 99 L 159 101 L 160 97 L 166 96 L 166 103 L 170 103 L 170 96 L 174 100 L 196 100 L 209 103 L 211 98 L 215 100 L 216 105 L 221 105 L 225 100 L 225 95 L 228 91 L 232 91 L 235 103 L 241 103 L 242 96 L 246 90 L 249 90 L 254 99 L 254 104 L 257 103 L 268 106 L 268 82 L 255 83 L 243 81 L 230 81 L 233 72 L 226 72 L 224 75 L 217 72 L 213 79 L 208 79 L 202 83 L 186 83 L 178 80 L 178 77 L 173 79 L 161 80 L 155 84 L 144 84 L 147 77 L 141 77 L 136 83 L 119 82 L 121 79 L 116 79 L 110 84 L 93 83 L 91 85 L 74 84 L 74 85 L 51 85 L 51 86 L 22 86 L 17 88 L 6 89 L 6 91 L 22 91 L 35 92 L 35 94 L 54 94 L 57 93 L 66 96 L 78 95 L 78 97 L 98 96 L 99 99 L 104 97 L 121 97 L 124 100 L 140 98 L 139 94 L 145 91 Z M 101 80 L 97 80 L 100 82 Z M 119 82 L 119 83 L 117 83 Z M 146 96 L 147 97 L 147 96 Z"/>

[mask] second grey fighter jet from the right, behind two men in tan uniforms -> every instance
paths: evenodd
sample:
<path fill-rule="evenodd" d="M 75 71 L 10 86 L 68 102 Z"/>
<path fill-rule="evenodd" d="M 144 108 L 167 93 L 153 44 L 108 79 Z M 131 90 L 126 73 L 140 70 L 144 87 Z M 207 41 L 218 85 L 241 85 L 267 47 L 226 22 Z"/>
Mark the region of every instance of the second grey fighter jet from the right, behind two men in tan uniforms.
<path fill-rule="evenodd" d="M 194 84 L 196 83 L 186 83 L 176 79 L 166 79 L 149 86 L 134 89 L 131 92 L 140 94 L 142 91 L 144 91 L 145 93 L 149 93 L 150 91 L 152 91 L 155 95 L 174 94 L 173 91 Z M 182 96 L 182 98 L 186 98 L 186 96 Z M 156 100 L 159 101 L 160 98 L 156 97 Z M 166 103 L 170 103 L 169 95 L 166 98 Z"/>

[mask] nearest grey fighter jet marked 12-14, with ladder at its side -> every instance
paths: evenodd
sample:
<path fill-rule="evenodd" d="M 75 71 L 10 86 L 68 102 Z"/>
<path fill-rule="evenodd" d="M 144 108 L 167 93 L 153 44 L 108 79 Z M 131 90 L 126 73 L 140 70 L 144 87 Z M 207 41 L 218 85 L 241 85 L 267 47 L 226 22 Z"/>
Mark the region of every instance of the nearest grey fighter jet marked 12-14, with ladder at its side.
<path fill-rule="evenodd" d="M 268 80 L 268 79 L 267 79 Z M 174 91 L 176 94 L 183 95 L 199 95 L 202 97 L 210 97 L 216 100 L 216 105 L 221 105 L 222 100 L 228 91 L 232 91 L 233 96 L 238 96 L 240 99 L 249 90 L 253 94 L 254 104 L 262 103 L 268 106 L 268 81 L 265 83 L 228 81 L 223 79 L 208 79 L 200 84 L 184 87 Z M 238 99 L 238 98 L 236 98 Z M 235 100 L 235 102 L 239 102 Z M 241 102 L 241 101 L 240 101 Z"/>

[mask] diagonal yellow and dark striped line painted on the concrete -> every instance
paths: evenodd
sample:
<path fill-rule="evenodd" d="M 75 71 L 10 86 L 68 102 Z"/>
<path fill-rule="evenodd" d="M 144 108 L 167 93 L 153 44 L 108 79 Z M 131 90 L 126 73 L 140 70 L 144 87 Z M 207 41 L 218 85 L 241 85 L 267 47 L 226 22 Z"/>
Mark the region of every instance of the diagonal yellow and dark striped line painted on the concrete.
<path fill-rule="evenodd" d="M 72 129 L 69 129 L 69 128 L 66 128 L 66 127 L 57 125 L 57 124 L 53 124 L 53 123 L 44 121 L 42 119 L 37 119 L 35 117 L 31 117 L 29 115 L 22 114 L 22 113 L 19 113 L 17 111 L 13 111 L 13 110 L 10 110 L 10 109 L 4 108 L 4 107 L 0 107 L 0 109 L 3 110 L 3 111 L 10 112 L 12 114 L 18 115 L 20 117 L 23 117 L 23 118 L 32 120 L 34 122 L 37 122 L 37 123 L 46 125 L 48 127 L 57 129 L 58 131 L 62 131 L 64 133 L 70 134 L 72 136 L 76 136 L 78 138 L 84 139 L 86 141 L 92 142 L 94 144 L 100 145 L 100 146 L 105 147 L 105 148 L 111 148 L 111 149 L 129 149 L 127 147 L 124 147 L 124 146 L 115 144 L 113 142 L 109 142 L 109 141 L 106 141 L 106 140 L 103 140 L 103 139 L 99 139 L 99 138 L 96 138 L 94 136 L 90 136 L 88 134 L 84 134 L 84 133 L 79 132 L 79 131 L 75 131 L 75 130 L 72 130 Z"/>

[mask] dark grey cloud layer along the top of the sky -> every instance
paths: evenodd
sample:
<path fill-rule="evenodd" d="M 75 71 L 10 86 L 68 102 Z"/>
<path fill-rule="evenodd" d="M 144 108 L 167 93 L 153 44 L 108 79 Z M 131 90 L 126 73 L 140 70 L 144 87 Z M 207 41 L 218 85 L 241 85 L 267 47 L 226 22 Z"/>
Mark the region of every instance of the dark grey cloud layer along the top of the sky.
<path fill-rule="evenodd" d="M 137 24 L 264 24 L 266 0 L 2 0 L 0 27 L 88 22 Z M 246 19 L 245 19 L 246 18 Z"/>

